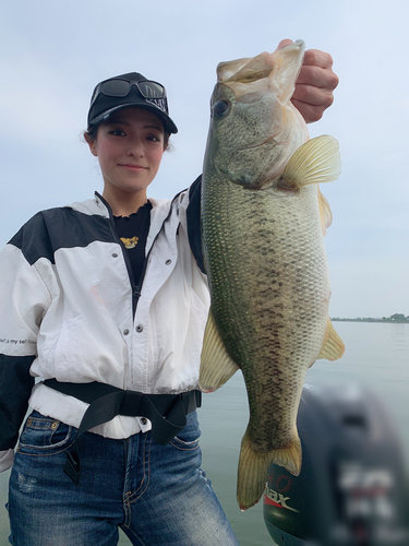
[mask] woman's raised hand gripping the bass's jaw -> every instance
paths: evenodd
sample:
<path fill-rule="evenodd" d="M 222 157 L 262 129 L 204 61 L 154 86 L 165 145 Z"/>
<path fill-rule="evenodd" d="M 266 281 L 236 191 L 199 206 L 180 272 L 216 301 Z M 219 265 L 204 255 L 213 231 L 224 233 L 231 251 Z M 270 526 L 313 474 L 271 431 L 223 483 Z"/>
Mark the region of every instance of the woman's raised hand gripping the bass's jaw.
<path fill-rule="evenodd" d="M 277 49 L 282 49 L 290 44 L 292 40 L 282 39 Z M 324 110 L 333 104 L 333 91 L 338 82 L 337 74 L 333 72 L 330 55 L 318 49 L 308 49 L 291 98 L 291 103 L 306 123 L 321 119 Z"/>

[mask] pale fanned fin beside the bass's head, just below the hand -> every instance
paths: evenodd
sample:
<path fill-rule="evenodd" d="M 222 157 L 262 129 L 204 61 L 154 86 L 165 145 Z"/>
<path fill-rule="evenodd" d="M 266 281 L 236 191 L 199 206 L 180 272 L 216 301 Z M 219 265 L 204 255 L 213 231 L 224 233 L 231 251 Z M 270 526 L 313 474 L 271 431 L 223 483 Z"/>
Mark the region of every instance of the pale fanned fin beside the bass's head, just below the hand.
<path fill-rule="evenodd" d="M 309 140 L 292 154 L 282 179 L 290 188 L 302 188 L 309 183 L 332 182 L 339 175 L 338 142 L 324 134 Z"/>

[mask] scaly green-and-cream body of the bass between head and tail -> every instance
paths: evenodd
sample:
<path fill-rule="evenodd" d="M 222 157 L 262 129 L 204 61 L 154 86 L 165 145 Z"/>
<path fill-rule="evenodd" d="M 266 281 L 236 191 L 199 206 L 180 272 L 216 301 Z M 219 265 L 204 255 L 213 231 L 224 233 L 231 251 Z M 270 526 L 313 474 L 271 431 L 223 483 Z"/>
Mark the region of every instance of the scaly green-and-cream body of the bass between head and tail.
<path fill-rule="evenodd" d="M 220 335 L 229 355 L 243 370 L 251 405 L 252 436 L 252 422 L 257 423 L 254 427 L 253 441 L 255 444 L 262 443 L 258 429 L 267 430 L 265 448 L 269 451 L 274 443 L 272 438 L 282 439 L 282 446 L 276 444 L 276 448 L 285 447 L 288 441 L 288 435 L 276 434 L 276 430 L 288 429 L 285 407 L 279 411 L 278 406 L 272 413 L 264 411 L 272 403 L 272 390 L 275 390 L 275 394 L 279 394 L 276 395 L 276 400 L 285 402 L 285 406 L 296 399 L 302 389 L 304 375 L 300 375 L 297 363 L 301 360 L 305 368 L 303 363 L 306 355 L 310 355 L 308 358 L 310 364 L 315 361 L 324 339 L 325 304 L 329 298 L 329 286 L 322 283 L 323 275 L 326 275 L 325 259 L 318 262 L 321 268 L 320 265 L 316 268 L 317 250 L 323 253 L 324 249 L 323 247 L 312 249 L 315 252 L 313 262 L 305 252 L 297 251 L 293 257 L 288 254 L 287 249 L 294 247 L 291 232 L 298 237 L 299 230 L 294 229 L 292 221 L 288 225 L 277 224 L 274 219 L 268 222 L 268 217 L 274 218 L 278 213 L 286 216 L 282 198 L 275 204 L 272 203 L 272 197 L 265 192 L 243 190 L 231 182 L 222 186 L 218 183 L 218 179 L 213 190 L 208 188 L 208 194 L 213 195 L 217 209 L 213 203 L 208 203 L 208 207 L 204 204 L 204 210 L 208 212 L 203 217 L 203 221 L 214 229 L 207 232 L 207 237 L 213 239 L 213 233 L 217 234 L 215 237 L 217 252 L 210 250 L 209 256 L 206 254 L 214 294 L 212 309 L 216 322 L 220 325 Z M 219 216 L 218 221 L 212 218 L 212 211 L 224 207 L 241 213 L 226 214 L 221 218 Z M 262 216 L 263 227 L 253 229 L 254 218 L 263 209 L 269 214 Z M 304 215 L 310 216 L 311 212 L 305 207 Z M 288 214 L 288 217 L 292 218 L 291 214 Z M 316 225 L 320 230 L 318 218 Z M 301 240 L 297 241 L 297 247 L 311 248 L 315 240 L 320 240 L 316 237 L 314 239 L 311 230 L 302 235 Z M 286 250 L 284 254 L 286 261 L 280 263 L 278 258 L 282 253 L 282 247 Z M 270 248 L 275 251 L 269 252 Z M 238 268 L 237 256 L 240 256 L 245 268 Z M 317 271 L 314 274 L 315 269 Z M 321 269 L 324 271 L 320 271 Z M 216 286 L 217 289 L 214 289 Z M 314 286 L 318 286 L 320 290 L 314 293 Z M 320 300 L 324 312 L 314 312 Z M 318 328 L 315 327 L 317 322 Z M 234 324 L 236 328 L 231 329 L 230 324 Z M 316 332 L 313 339 L 304 334 L 305 330 L 310 329 Z M 254 336 L 258 341 L 255 347 L 251 343 Z M 309 340 L 308 345 L 305 345 L 306 340 Z M 288 355 L 287 366 L 282 366 L 282 355 Z M 254 363 L 260 360 L 268 363 L 268 373 L 264 367 L 254 366 Z M 281 370 L 287 370 L 290 378 L 277 380 L 285 375 Z M 288 420 L 291 418 L 291 415 L 288 416 Z M 263 420 L 265 427 L 258 427 Z"/>

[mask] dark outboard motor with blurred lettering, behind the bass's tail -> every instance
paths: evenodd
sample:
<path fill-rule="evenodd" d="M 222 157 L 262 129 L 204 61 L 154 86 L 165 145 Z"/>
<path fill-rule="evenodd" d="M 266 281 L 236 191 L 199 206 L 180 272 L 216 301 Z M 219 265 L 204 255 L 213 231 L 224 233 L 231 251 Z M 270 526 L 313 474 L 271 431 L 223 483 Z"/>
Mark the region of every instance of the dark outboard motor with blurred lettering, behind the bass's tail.
<path fill-rule="evenodd" d="M 280 546 L 408 546 L 409 495 L 395 429 L 356 385 L 305 384 L 298 413 L 302 468 L 273 464 L 264 520 Z"/>

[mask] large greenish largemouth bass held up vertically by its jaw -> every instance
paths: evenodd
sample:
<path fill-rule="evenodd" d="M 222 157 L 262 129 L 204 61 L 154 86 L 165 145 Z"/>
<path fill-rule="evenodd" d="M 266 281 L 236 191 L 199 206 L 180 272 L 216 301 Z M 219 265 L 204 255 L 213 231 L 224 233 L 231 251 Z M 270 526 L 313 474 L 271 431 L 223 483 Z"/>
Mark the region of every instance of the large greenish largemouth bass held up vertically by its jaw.
<path fill-rule="evenodd" d="M 217 67 L 203 170 L 202 228 L 212 296 L 200 383 L 221 387 L 239 368 L 250 420 L 238 502 L 255 505 L 270 463 L 298 475 L 297 412 L 308 368 L 344 343 L 328 318 L 324 238 L 332 213 L 318 182 L 338 178 L 338 143 L 309 140 L 290 98 L 301 40 Z"/>

